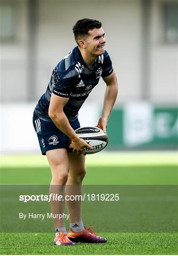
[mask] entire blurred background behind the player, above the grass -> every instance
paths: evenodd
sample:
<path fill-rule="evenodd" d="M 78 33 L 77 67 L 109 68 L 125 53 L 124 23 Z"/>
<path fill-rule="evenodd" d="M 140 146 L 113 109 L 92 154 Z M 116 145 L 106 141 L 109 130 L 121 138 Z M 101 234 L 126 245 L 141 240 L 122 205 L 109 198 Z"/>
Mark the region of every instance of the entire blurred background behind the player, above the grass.
<path fill-rule="evenodd" d="M 107 150 L 177 148 L 177 0 L 1 0 L 0 11 L 2 153 L 40 153 L 33 110 L 55 65 L 76 46 L 80 18 L 102 21 L 118 78 Z M 101 80 L 80 110 L 81 126 L 98 123 Z"/>

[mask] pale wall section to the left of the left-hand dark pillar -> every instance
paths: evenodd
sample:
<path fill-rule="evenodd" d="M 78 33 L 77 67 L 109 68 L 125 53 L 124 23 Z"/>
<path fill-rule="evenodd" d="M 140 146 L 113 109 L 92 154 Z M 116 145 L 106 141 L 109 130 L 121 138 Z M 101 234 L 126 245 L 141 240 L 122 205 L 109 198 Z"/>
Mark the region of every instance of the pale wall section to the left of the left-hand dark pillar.
<path fill-rule="evenodd" d="M 27 98 L 27 1 L 1 2 L 6 5 L 11 3 L 16 37 L 12 42 L 3 42 L 2 39 L 0 42 L 1 100 L 6 102 L 24 101 Z"/>

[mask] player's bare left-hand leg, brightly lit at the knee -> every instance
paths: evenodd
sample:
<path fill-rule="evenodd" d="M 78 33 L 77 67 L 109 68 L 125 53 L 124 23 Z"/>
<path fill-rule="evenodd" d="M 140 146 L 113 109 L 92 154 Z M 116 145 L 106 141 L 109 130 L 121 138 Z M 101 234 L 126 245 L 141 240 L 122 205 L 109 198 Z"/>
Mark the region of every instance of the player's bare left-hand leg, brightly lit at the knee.
<path fill-rule="evenodd" d="M 65 196 L 65 184 L 68 179 L 69 172 L 69 158 L 66 149 L 58 148 L 49 150 L 46 152 L 46 156 L 51 166 L 52 181 L 50 185 L 50 194 L 58 194 Z M 53 214 L 62 214 L 65 208 L 64 201 L 52 201 L 50 202 L 51 211 Z M 64 219 L 53 218 L 54 227 L 65 227 Z"/>

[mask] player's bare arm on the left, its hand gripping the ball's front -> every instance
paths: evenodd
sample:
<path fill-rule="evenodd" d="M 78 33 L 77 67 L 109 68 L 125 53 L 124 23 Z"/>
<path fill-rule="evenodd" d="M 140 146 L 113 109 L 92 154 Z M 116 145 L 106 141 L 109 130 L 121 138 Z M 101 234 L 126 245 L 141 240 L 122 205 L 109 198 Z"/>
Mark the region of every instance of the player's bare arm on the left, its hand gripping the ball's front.
<path fill-rule="evenodd" d="M 73 128 L 71 128 L 69 120 L 63 112 L 63 107 L 68 101 L 69 98 L 63 98 L 52 93 L 48 114 L 57 128 L 59 128 L 65 135 L 67 135 L 67 137 L 71 139 L 71 146 L 69 147 L 73 149 L 73 152 L 86 155 L 83 151 L 84 147 L 92 149 L 92 146 L 90 146 L 83 139 L 79 138 Z"/>

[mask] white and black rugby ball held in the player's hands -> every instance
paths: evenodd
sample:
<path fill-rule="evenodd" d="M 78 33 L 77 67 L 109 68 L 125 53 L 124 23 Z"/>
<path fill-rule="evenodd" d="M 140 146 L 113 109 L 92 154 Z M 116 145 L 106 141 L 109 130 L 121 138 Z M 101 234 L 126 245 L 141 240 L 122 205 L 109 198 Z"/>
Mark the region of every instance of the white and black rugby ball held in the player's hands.
<path fill-rule="evenodd" d="M 98 127 L 81 127 L 76 129 L 75 133 L 93 147 L 93 149 L 85 147 L 86 154 L 95 154 L 103 150 L 109 140 L 107 134 Z"/>

